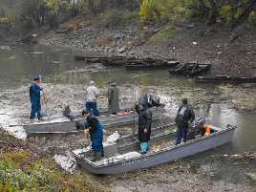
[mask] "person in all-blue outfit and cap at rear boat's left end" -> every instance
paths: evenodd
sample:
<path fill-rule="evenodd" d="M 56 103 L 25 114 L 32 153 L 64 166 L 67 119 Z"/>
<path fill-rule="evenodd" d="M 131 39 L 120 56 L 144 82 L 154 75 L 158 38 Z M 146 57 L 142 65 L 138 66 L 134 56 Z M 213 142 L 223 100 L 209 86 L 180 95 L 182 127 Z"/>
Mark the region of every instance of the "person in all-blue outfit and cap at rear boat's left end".
<path fill-rule="evenodd" d="M 31 120 L 33 120 L 36 115 L 39 120 L 44 120 L 41 115 L 41 95 L 40 95 L 43 88 L 40 87 L 40 84 L 41 84 L 40 76 L 34 76 L 33 82 L 30 87 L 30 97 L 32 102 L 32 111 L 31 111 L 31 117 L 30 117 Z"/>

